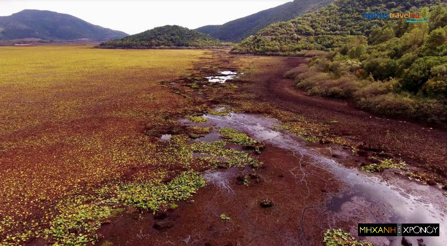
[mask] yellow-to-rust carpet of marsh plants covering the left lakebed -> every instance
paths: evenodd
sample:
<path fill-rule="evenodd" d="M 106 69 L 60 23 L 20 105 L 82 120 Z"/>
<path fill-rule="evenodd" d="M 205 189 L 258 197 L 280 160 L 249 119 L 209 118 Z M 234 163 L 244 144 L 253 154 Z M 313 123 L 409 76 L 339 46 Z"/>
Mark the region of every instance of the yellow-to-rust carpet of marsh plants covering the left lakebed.
<path fill-rule="evenodd" d="M 160 82 L 207 56 L 203 50 L 0 47 L 0 238 L 37 223 L 42 212 L 51 216 L 48 208 L 72 190 L 154 164 L 144 123 L 162 122 L 186 104 Z"/>

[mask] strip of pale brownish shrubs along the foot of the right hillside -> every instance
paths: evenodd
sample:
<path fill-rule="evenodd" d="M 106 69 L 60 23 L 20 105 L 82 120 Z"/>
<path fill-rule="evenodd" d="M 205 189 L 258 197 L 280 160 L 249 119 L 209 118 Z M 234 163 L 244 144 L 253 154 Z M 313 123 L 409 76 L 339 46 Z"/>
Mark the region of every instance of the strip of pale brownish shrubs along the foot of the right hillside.
<path fill-rule="evenodd" d="M 317 64 L 318 65 L 318 64 Z M 362 109 L 374 113 L 419 119 L 429 122 L 445 122 L 446 78 L 438 76 L 426 82 L 421 94 L 438 99 L 399 92 L 398 79 L 375 81 L 356 78 L 352 74 L 340 78 L 310 68 L 298 74 L 297 86 L 310 95 L 351 99 Z M 439 99 L 441 98 L 441 100 Z"/>

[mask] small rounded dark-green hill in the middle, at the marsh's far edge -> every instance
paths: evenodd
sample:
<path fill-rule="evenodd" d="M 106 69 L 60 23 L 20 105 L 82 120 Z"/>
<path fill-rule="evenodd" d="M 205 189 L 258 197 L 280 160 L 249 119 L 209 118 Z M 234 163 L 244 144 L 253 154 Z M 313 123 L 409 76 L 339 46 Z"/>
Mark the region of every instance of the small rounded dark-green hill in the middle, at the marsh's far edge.
<path fill-rule="evenodd" d="M 99 48 L 152 48 L 152 47 L 211 47 L 225 46 L 228 43 L 221 42 L 208 34 L 199 33 L 180 26 L 156 27 L 127 36 L 125 38 L 106 41 Z"/>

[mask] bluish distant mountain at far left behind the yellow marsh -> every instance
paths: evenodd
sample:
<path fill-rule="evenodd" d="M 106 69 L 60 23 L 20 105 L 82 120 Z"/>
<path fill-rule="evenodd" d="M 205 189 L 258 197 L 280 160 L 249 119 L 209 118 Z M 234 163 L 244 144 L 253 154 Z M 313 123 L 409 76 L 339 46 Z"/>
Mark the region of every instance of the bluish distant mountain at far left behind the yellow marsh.
<path fill-rule="evenodd" d="M 48 10 L 23 10 L 0 16 L 0 40 L 34 38 L 43 40 L 110 40 L 126 33 L 96 26 L 69 14 Z"/>

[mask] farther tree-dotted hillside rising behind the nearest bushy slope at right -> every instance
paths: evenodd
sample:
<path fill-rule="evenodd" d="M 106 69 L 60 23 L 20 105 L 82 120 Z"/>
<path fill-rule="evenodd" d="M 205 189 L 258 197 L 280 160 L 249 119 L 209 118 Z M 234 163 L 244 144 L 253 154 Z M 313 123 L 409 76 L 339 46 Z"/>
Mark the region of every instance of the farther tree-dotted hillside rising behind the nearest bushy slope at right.
<path fill-rule="evenodd" d="M 294 55 L 301 50 L 329 50 L 352 38 L 368 36 L 373 28 L 385 25 L 384 19 L 368 20 L 363 17 L 364 13 L 381 12 L 380 9 L 393 13 L 417 11 L 439 3 L 440 0 L 336 0 L 319 11 L 269 25 L 242 40 L 232 52 Z M 399 20 L 388 21 L 396 23 Z"/>

